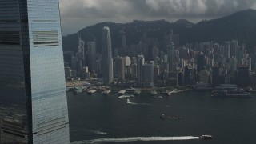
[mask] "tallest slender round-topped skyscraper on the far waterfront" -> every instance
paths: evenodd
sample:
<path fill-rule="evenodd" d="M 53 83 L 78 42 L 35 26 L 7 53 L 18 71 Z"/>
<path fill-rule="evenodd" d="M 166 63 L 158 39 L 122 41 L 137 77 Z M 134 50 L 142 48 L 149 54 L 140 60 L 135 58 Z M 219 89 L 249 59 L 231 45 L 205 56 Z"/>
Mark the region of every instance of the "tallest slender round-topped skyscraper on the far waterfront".
<path fill-rule="evenodd" d="M 105 85 L 108 85 L 113 82 L 113 59 L 111 50 L 110 28 L 107 26 L 103 28 L 102 49 L 103 83 Z"/>

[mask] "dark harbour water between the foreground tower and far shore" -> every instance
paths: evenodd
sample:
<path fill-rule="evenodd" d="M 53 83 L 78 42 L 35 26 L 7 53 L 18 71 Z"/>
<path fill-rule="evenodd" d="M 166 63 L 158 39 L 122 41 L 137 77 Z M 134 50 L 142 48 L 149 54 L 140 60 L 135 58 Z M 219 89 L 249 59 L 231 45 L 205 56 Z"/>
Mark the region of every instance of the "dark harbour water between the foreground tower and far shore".
<path fill-rule="evenodd" d="M 210 134 L 214 138 L 209 141 L 193 139 L 123 143 L 254 144 L 254 98 L 211 98 L 206 92 L 187 91 L 163 98 L 151 98 L 147 94 L 142 94 L 136 98 L 129 98 L 133 104 L 127 104 L 126 98 L 120 99 L 117 94 L 106 96 L 68 93 L 70 141 L 86 143 L 98 138 L 150 139 Z M 182 118 L 162 120 L 159 118 L 161 114 Z"/>

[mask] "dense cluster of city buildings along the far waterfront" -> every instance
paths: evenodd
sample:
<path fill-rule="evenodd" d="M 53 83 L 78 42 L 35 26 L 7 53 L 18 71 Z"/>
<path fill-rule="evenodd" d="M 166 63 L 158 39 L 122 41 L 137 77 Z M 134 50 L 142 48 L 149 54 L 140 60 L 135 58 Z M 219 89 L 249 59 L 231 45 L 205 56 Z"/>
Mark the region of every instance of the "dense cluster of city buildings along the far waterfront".
<path fill-rule="evenodd" d="M 111 50 L 110 29 L 104 27 L 102 41 L 102 54 L 96 54 L 95 42 L 87 43 L 88 61 L 84 66 L 88 69 L 80 75 L 72 75 L 75 74 L 72 71 L 82 70 L 78 68 L 79 62 L 73 61 L 79 58 L 73 57 L 71 66 L 66 67 L 66 77 L 88 78 L 85 75 L 89 70 L 94 76 L 103 76 L 103 83 L 107 85 L 256 86 L 256 66 L 252 65 L 256 56 L 248 54 L 246 45 L 239 45 L 237 40 L 179 46 L 179 35 L 173 34 L 172 30 L 161 41 L 147 38 L 144 32 L 138 44 L 130 46 L 126 45 L 126 35 L 123 34 L 122 46 Z"/>

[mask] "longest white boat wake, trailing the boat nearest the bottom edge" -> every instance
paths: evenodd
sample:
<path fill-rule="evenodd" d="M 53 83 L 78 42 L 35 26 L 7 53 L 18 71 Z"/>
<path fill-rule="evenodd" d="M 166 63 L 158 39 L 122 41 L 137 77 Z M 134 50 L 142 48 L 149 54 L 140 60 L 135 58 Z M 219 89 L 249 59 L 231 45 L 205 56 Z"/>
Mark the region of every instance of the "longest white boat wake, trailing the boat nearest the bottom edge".
<path fill-rule="evenodd" d="M 130 138 L 98 138 L 85 141 L 75 141 L 71 144 L 86 144 L 86 143 L 107 143 L 107 142 L 136 142 L 136 141 L 182 141 L 194 140 L 199 137 L 184 136 L 184 137 L 130 137 Z"/>

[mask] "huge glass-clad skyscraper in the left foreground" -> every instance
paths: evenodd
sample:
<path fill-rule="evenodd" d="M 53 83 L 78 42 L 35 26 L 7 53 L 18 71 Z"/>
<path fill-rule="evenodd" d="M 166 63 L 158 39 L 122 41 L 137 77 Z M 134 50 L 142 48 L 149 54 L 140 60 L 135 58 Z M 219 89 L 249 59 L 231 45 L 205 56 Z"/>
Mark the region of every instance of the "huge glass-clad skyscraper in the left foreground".
<path fill-rule="evenodd" d="M 0 143 L 69 143 L 58 0 L 0 0 Z"/>

